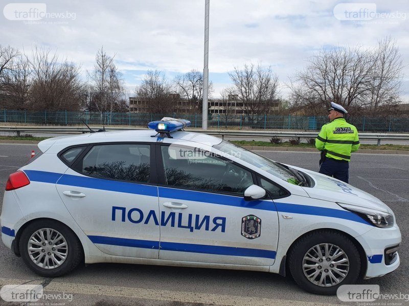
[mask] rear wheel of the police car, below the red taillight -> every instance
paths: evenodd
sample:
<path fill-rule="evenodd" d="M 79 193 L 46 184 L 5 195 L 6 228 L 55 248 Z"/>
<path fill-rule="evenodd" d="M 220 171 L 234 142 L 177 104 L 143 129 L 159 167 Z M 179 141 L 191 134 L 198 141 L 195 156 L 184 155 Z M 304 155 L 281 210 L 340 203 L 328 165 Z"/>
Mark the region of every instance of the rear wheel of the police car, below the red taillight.
<path fill-rule="evenodd" d="M 82 260 L 82 247 L 77 236 L 55 220 L 29 224 L 21 233 L 19 247 L 25 264 L 41 276 L 61 276 Z"/>

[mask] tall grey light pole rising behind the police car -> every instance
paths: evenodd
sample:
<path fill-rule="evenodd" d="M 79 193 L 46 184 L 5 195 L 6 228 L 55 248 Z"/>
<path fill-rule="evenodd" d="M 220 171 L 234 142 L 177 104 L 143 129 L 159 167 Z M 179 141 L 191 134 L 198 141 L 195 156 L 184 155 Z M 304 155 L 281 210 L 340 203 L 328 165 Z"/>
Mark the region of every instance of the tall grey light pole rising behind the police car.
<path fill-rule="evenodd" d="M 203 104 L 202 129 L 208 129 L 208 101 L 209 101 L 209 7 L 210 0 L 205 0 L 205 66 L 203 67 Z"/>

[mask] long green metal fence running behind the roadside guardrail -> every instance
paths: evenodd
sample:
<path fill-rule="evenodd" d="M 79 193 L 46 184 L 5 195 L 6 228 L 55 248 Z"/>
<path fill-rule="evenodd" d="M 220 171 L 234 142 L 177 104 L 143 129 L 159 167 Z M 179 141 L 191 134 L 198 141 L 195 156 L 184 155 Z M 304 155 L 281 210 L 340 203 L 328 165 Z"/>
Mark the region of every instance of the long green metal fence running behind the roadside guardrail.
<path fill-rule="evenodd" d="M 183 118 L 190 120 L 192 127 L 201 127 L 201 114 L 138 114 L 138 113 L 99 113 L 73 111 L 0 111 L 0 124 L 26 123 L 51 125 L 127 125 L 147 126 L 148 122 L 163 117 Z M 409 118 L 369 118 L 348 117 L 362 132 L 409 132 Z M 327 116 L 246 116 L 212 114 L 208 117 L 208 127 L 216 129 L 260 129 L 260 130 L 319 130 L 328 122 Z"/>

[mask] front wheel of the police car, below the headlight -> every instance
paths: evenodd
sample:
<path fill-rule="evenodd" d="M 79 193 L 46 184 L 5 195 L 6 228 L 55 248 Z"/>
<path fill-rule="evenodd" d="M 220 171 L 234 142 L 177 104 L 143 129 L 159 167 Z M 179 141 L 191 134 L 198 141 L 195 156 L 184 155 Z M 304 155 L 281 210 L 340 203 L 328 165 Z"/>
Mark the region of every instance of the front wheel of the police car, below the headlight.
<path fill-rule="evenodd" d="M 291 247 L 288 267 L 305 291 L 334 295 L 339 286 L 355 283 L 361 262 L 351 239 L 336 231 L 320 230 L 303 236 Z"/>

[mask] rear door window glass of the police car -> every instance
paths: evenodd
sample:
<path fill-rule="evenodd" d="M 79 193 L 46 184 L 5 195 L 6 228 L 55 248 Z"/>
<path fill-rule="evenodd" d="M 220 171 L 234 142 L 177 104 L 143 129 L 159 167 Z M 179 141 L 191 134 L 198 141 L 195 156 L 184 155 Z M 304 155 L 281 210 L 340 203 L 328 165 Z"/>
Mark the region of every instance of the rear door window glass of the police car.
<path fill-rule="evenodd" d="M 150 145 L 95 145 L 82 160 L 82 174 L 101 179 L 149 183 Z"/>

